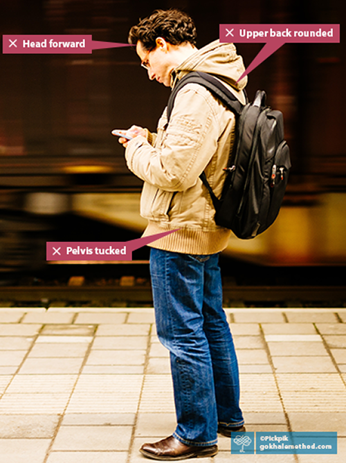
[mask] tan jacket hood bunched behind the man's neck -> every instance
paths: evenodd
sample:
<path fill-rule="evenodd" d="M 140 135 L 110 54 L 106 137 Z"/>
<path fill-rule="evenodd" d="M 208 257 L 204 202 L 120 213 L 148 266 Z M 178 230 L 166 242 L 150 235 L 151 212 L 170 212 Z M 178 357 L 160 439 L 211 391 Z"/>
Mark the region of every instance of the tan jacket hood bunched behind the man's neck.
<path fill-rule="evenodd" d="M 216 75 L 224 80 L 236 91 L 241 91 L 248 82 L 247 76 L 237 82 L 239 77 L 244 73 L 245 67 L 243 59 L 237 55 L 234 44 L 220 44 L 215 40 L 210 44 L 203 46 L 196 53 L 188 57 L 183 63 L 179 64 L 172 71 L 172 87 L 176 78 L 182 78 L 188 72 L 201 71 Z"/>

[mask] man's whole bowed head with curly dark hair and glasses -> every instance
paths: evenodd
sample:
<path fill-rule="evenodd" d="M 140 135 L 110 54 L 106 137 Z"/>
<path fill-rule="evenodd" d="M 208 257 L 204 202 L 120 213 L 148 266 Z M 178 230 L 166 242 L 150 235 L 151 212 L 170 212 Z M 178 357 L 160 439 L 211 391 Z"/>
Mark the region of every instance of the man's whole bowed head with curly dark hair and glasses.
<path fill-rule="evenodd" d="M 149 79 L 170 86 L 172 70 L 196 51 L 197 32 L 185 12 L 156 10 L 129 31 L 129 43 L 136 52 Z"/>

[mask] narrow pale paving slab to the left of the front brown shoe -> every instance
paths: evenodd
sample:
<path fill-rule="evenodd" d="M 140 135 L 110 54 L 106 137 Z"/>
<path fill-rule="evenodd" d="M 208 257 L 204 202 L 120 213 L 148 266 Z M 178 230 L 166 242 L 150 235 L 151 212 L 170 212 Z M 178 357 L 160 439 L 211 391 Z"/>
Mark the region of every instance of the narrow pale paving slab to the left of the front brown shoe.
<path fill-rule="evenodd" d="M 134 413 L 67 413 L 62 419 L 62 425 L 134 426 L 135 418 L 136 415 Z"/>

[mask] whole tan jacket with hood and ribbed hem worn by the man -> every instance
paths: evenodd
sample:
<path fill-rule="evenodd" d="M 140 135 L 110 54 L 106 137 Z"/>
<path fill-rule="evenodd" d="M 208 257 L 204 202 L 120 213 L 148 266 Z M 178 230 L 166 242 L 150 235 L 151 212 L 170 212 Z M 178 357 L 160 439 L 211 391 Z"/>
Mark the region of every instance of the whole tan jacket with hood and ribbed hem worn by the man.
<path fill-rule="evenodd" d="M 242 57 L 233 44 L 212 42 L 172 72 L 172 87 L 190 71 L 219 76 L 244 102 L 246 78 Z M 228 244 L 230 230 L 215 224 L 215 209 L 199 175 L 205 171 L 215 194 L 221 194 L 235 117 L 219 100 L 198 84 L 187 84 L 176 96 L 167 123 L 166 111 L 158 121 L 157 134 L 136 137 L 125 152 L 127 166 L 145 183 L 140 215 L 148 220 L 143 236 L 178 231 L 150 246 L 189 254 L 212 254 Z"/>

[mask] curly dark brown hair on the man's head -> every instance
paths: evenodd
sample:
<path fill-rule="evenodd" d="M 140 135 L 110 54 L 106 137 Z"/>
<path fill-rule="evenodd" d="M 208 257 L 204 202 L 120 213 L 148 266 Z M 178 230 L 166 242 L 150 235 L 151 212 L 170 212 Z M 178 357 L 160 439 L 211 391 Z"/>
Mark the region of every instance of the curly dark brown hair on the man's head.
<path fill-rule="evenodd" d="M 140 19 L 137 26 L 131 27 L 129 44 L 136 45 L 140 41 L 145 50 L 154 50 L 157 37 L 163 37 L 172 45 L 184 42 L 196 45 L 196 26 L 187 13 L 176 8 L 155 10 L 149 17 Z"/>

